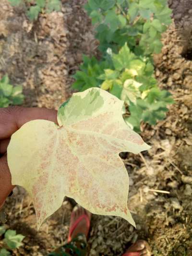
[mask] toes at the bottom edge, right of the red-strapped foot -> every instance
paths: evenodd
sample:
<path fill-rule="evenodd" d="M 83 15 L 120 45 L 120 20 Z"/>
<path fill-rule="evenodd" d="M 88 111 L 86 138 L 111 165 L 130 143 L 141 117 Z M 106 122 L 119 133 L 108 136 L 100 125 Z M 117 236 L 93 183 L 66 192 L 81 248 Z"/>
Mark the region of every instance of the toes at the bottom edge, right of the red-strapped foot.
<path fill-rule="evenodd" d="M 129 256 L 129 253 L 139 253 L 139 256 L 151 256 L 151 249 L 146 241 L 138 240 L 136 243 L 129 247 L 125 255 Z"/>

